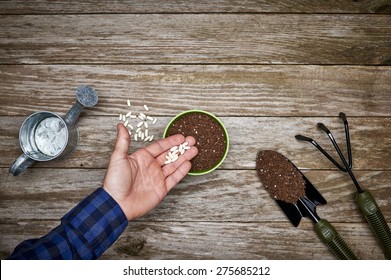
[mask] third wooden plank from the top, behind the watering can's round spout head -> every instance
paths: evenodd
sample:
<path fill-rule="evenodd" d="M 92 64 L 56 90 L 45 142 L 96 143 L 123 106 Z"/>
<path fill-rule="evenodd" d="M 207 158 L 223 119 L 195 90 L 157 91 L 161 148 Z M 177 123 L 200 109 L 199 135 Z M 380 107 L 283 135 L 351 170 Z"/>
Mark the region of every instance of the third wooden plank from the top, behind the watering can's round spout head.
<path fill-rule="evenodd" d="M 88 116 L 123 112 L 127 99 L 148 104 L 157 116 L 187 109 L 222 116 L 391 116 L 390 67 L 316 65 L 3 65 L 0 115 L 65 114 L 80 84 L 93 85 L 100 97 Z"/>

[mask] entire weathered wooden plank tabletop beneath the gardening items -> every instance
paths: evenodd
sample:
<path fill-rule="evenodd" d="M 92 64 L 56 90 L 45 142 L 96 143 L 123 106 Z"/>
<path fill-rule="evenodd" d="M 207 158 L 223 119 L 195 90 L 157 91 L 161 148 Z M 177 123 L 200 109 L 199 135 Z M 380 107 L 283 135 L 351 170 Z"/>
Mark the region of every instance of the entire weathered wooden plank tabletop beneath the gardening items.
<path fill-rule="evenodd" d="M 355 188 L 309 144 L 324 122 L 391 224 L 390 1 L 1 1 L 0 257 L 55 227 L 100 186 L 118 114 L 130 99 L 167 122 L 207 110 L 231 147 L 213 173 L 187 176 L 149 215 L 131 222 L 103 259 L 334 259 L 313 225 L 293 227 L 259 182 L 255 156 L 281 152 L 328 200 L 328 219 L 361 259 L 384 259 L 354 203 Z M 100 101 L 78 121 L 62 160 L 19 177 L 18 131 L 33 112 L 65 114 L 78 85 Z M 133 143 L 130 152 L 145 145 Z M 332 151 L 330 149 L 330 151 Z"/>

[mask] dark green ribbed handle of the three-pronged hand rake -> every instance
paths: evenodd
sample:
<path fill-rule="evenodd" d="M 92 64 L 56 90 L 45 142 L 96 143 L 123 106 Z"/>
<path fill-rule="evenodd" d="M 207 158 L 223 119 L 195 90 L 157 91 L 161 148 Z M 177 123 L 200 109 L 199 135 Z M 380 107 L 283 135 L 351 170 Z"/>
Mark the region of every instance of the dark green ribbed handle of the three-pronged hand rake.
<path fill-rule="evenodd" d="M 357 193 L 356 202 L 384 249 L 386 259 L 391 259 L 391 232 L 375 199 L 368 191 Z"/>

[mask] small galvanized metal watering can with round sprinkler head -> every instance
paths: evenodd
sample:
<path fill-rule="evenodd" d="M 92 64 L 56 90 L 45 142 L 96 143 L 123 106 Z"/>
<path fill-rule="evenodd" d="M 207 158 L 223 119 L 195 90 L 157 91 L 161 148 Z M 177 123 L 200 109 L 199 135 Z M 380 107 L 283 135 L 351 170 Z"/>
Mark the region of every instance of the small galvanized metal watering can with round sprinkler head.
<path fill-rule="evenodd" d="M 75 150 L 79 142 L 76 121 L 84 107 L 93 107 L 98 103 L 98 95 L 89 86 L 79 86 L 76 99 L 64 117 L 47 111 L 27 117 L 19 130 L 19 144 L 23 154 L 12 164 L 10 173 L 17 176 L 36 161 L 64 157 Z"/>

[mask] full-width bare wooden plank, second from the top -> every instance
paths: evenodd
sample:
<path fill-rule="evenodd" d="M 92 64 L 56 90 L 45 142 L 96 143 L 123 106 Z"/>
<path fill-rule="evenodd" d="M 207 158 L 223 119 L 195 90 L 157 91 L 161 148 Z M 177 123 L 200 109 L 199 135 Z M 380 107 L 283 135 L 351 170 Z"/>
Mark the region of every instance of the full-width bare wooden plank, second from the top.
<path fill-rule="evenodd" d="M 0 64 L 389 65 L 390 21 L 319 14 L 2 16 Z"/>

